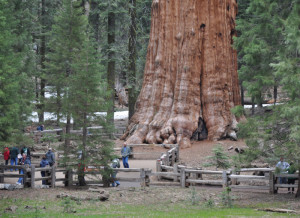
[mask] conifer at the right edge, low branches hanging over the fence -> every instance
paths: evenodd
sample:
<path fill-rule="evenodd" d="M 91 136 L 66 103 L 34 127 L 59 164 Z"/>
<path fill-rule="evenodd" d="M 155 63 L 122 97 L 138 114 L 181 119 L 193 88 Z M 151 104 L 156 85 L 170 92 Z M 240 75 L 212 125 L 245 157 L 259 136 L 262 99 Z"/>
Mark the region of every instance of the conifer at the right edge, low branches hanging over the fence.
<path fill-rule="evenodd" d="M 280 32 L 281 41 L 272 53 L 274 57 L 270 67 L 278 79 L 278 85 L 283 87 L 289 99 L 282 105 L 274 106 L 271 113 L 249 118 L 246 123 L 241 124 L 239 137 L 246 139 L 249 147 L 246 159 L 249 162 L 260 159 L 274 166 L 279 157 L 284 156 L 286 160 L 293 161 L 299 169 L 300 92 L 297 87 L 300 75 L 300 2 L 294 0 L 279 3 L 273 10 L 278 12 L 274 17 L 281 23 L 279 26 L 281 28 L 277 30 Z M 260 13 L 264 14 L 265 11 L 262 10 Z M 273 39 L 273 36 L 268 37 L 270 41 Z M 300 196 L 299 189 L 296 196 Z"/>

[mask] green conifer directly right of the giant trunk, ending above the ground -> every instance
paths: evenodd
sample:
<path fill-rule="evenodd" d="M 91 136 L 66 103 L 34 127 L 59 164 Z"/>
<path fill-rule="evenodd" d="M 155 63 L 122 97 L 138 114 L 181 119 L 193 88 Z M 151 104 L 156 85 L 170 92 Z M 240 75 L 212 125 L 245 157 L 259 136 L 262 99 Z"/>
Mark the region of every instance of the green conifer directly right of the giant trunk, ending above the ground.
<path fill-rule="evenodd" d="M 274 87 L 276 99 L 279 78 L 270 63 L 275 61 L 274 53 L 283 46 L 281 19 L 287 16 L 287 1 L 254 0 L 247 3 L 243 2 L 241 9 L 245 13 L 237 20 L 239 37 L 235 39 L 235 47 L 241 57 L 239 79 L 252 100 L 261 107 L 263 94 L 271 87 Z"/>

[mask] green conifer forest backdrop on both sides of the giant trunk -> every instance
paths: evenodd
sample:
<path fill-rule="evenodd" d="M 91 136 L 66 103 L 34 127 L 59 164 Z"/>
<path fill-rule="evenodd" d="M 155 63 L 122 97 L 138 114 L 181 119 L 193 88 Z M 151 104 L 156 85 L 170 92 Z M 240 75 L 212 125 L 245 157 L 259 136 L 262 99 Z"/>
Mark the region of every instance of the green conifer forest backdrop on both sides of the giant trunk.
<path fill-rule="evenodd" d="M 234 46 L 242 99 L 250 98 L 253 112 L 262 110 L 265 93 L 274 99 L 263 119 L 249 117 L 240 125 L 239 137 L 252 148 L 250 159 L 263 156 L 275 161 L 286 155 L 298 162 L 300 1 L 237 3 Z M 40 123 L 45 111 L 55 112 L 57 123 L 67 131 L 71 118 L 78 126 L 87 126 L 85 118 L 95 111 L 107 111 L 108 123 L 113 123 L 115 89 L 128 89 L 132 116 L 142 84 L 151 4 L 151 0 L 1 0 L 1 145 L 24 143 L 22 134 L 33 111 Z M 285 98 L 275 105 L 278 90 Z M 51 98 L 46 98 L 46 91 Z M 233 112 L 244 113 L 242 107 Z"/>

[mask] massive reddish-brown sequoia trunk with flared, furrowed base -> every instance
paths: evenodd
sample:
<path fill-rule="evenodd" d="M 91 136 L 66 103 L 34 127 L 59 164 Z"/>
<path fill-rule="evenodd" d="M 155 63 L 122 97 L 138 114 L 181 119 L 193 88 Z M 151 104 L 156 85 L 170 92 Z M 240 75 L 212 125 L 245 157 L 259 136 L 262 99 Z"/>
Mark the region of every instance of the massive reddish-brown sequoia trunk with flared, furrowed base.
<path fill-rule="evenodd" d="M 153 0 L 143 87 L 123 139 L 188 147 L 205 129 L 209 140 L 236 138 L 236 13 L 235 0 Z"/>

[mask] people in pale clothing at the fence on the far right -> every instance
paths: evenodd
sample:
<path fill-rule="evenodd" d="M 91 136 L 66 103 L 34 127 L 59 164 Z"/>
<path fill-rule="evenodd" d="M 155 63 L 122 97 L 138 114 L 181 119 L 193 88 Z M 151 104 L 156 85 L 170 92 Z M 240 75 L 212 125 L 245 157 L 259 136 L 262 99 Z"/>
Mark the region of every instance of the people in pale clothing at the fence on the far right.
<path fill-rule="evenodd" d="M 280 161 L 276 164 L 276 168 L 280 171 L 280 173 L 288 173 L 288 174 L 294 174 L 296 172 L 296 168 L 293 164 L 287 163 L 284 161 L 284 158 L 281 157 Z M 280 177 L 279 182 L 280 184 L 295 184 L 295 178 L 285 178 L 285 177 Z M 288 188 L 288 192 L 290 193 L 290 188 Z M 294 188 L 292 188 L 292 193 L 294 193 Z"/>

